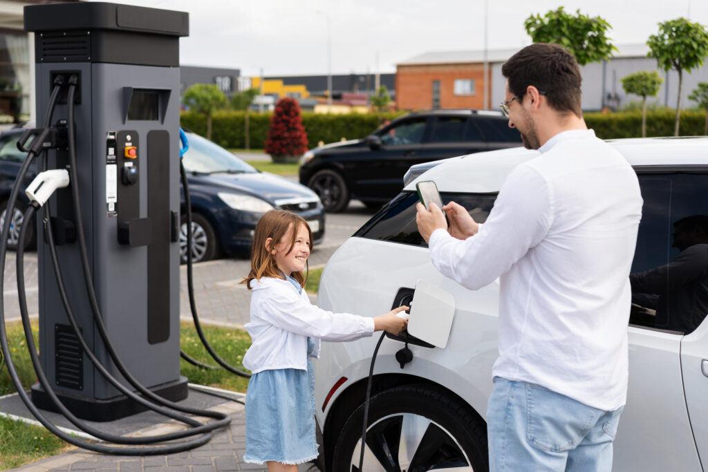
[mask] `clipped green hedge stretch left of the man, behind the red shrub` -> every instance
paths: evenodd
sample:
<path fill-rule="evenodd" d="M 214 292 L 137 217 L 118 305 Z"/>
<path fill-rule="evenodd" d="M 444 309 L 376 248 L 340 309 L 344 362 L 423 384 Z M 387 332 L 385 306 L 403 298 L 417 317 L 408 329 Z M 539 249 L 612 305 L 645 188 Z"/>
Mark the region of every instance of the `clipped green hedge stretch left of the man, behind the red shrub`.
<path fill-rule="evenodd" d="M 392 120 L 403 113 L 384 113 Z M 249 147 L 263 149 L 265 137 L 273 113 L 249 113 Z M 222 111 L 212 116 L 212 141 L 227 148 L 246 148 L 246 113 L 242 111 Z M 185 111 L 181 114 L 181 125 L 201 136 L 207 133 L 207 120 L 200 113 Z M 357 139 L 371 134 L 379 127 L 379 117 L 375 113 L 348 113 L 346 115 L 325 115 L 302 113 L 302 125 L 307 132 L 308 147 L 319 142 L 330 143 L 342 138 Z"/>

